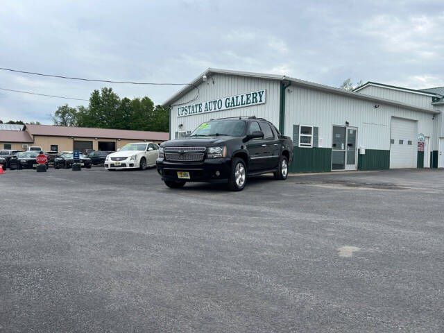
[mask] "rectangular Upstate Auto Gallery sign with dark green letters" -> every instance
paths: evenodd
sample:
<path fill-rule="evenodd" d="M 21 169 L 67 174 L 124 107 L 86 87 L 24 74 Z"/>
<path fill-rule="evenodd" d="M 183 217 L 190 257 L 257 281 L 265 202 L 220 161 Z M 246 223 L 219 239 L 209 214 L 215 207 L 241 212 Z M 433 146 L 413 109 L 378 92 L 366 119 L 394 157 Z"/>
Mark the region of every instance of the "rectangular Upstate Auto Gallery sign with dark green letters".
<path fill-rule="evenodd" d="M 265 89 L 246 94 L 223 97 L 213 101 L 200 102 L 178 107 L 178 117 L 203 114 L 214 111 L 223 111 L 244 106 L 259 105 L 265 103 Z"/>

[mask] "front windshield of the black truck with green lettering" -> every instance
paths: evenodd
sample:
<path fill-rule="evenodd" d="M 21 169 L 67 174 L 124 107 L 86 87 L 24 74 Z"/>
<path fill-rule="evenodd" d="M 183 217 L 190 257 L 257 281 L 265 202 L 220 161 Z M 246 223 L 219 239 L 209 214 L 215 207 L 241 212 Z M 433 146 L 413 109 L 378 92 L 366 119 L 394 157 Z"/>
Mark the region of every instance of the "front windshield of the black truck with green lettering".
<path fill-rule="evenodd" d="M 190 137 L 229 135 L 230 137 L 241 137 L 245 133 L 244 120 L 213 120 L 201 123 Z"/>

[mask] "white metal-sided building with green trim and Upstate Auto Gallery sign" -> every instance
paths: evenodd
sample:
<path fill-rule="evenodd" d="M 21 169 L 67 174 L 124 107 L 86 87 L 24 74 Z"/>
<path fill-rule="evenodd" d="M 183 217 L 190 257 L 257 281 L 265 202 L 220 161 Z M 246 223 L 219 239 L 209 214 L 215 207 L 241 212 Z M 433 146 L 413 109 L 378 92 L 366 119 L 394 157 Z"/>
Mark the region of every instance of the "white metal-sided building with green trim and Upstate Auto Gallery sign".
<path fill-rule="evenodd" d="M 366 83 L 349 92 L 289 76 L 207 69 L 164 102 L 170 137 L 262 117 L 293 138 L 292 172 L 444 167 L 444 88 Z"/>

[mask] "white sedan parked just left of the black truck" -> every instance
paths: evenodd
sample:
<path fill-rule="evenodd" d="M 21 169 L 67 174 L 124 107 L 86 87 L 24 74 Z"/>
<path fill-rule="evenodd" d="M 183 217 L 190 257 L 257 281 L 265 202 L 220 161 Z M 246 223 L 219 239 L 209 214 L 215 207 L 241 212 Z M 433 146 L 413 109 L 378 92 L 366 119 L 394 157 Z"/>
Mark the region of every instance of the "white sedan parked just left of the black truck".
<path fill-rule="evenodd" d="M 141 169 L 155 167 L 155 160 L 159 156 L 159 146 L 153 143 L 139 142 L 127 144 L 106 156 L 105 169 Z"/>

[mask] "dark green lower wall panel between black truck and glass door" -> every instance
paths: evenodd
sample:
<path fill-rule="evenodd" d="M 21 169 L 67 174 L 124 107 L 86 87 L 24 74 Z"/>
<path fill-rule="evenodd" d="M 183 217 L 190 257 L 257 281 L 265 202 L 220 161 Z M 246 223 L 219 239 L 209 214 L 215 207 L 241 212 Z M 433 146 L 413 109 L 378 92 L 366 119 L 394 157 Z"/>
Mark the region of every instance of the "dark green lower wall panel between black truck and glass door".
<path fill-rule="evenodd" d="M 327 172 L 332 171 L 331 148 L 293 147 L 293 162 L 289 172 Z"/>

